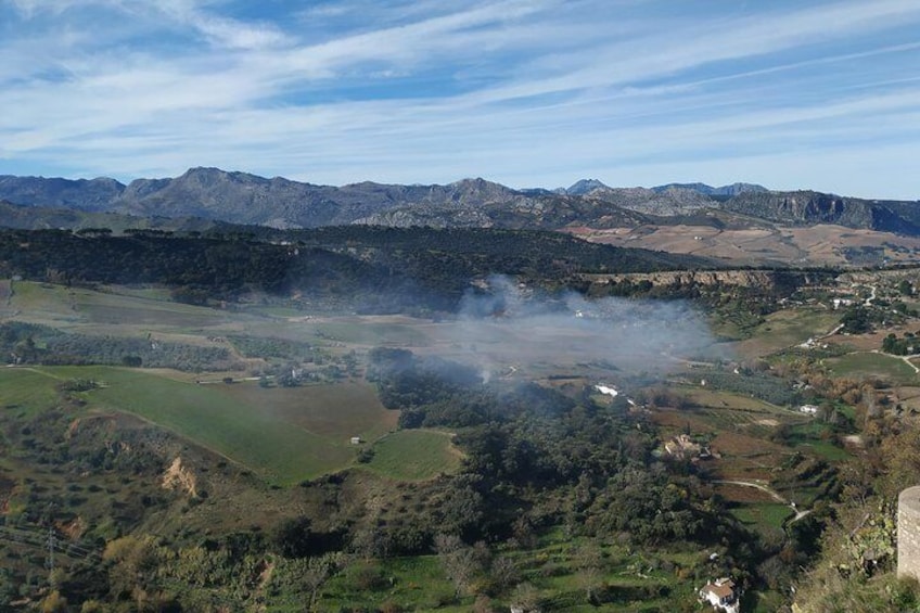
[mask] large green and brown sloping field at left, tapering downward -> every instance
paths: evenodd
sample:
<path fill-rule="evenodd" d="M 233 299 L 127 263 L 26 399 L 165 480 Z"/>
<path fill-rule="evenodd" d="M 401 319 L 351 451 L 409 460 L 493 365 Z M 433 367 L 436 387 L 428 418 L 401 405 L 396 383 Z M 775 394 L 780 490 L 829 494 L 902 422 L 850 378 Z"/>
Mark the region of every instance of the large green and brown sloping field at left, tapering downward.
<path fill-rule="evenodd" d="M 95 380 L 103 386 L 85 395 L 87 410 L 136 414 L 282 485 L 349 465 L 355 458 L 349 437 L 372 440 L 396 419 L 360 384 L 291 389 L 254 383 L 197 385 L 106 367 L 0 372 L 5 403 L 23 406 L 53 403 L 56 380 Z M 299 405 L 296 395 L 303 399 Z"/>

